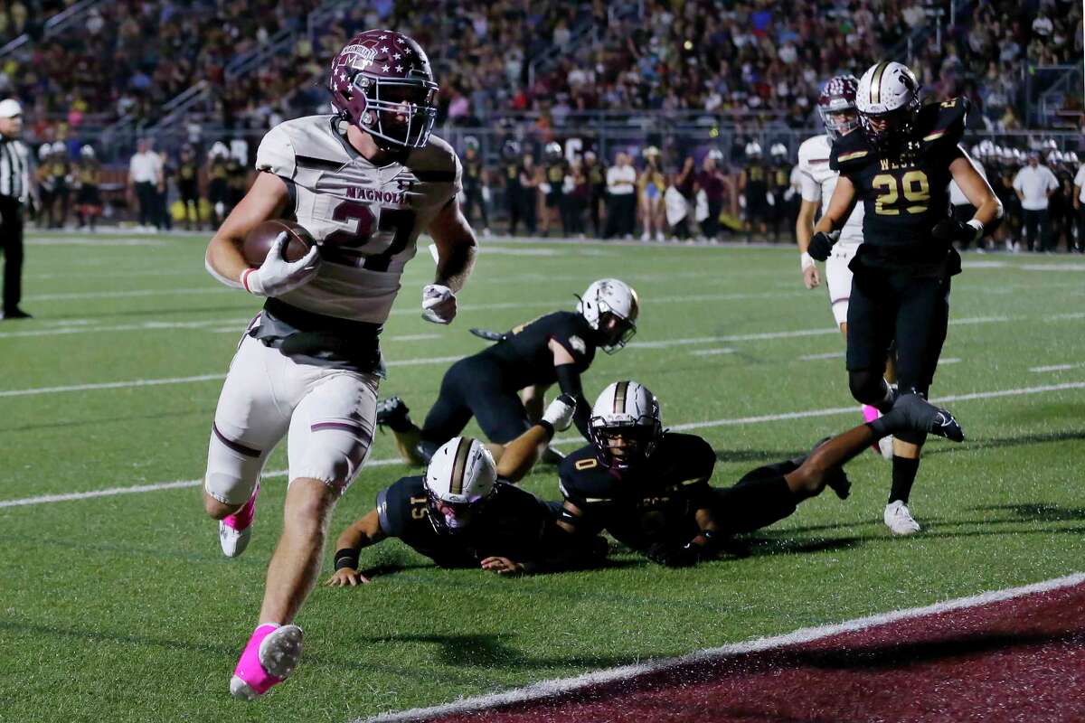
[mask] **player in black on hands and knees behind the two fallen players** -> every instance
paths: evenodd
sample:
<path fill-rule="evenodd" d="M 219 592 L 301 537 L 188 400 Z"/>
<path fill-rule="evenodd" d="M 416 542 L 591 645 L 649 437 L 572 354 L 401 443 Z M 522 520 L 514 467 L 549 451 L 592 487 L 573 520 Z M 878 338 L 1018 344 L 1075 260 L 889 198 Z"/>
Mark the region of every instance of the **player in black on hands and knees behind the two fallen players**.
<path fill-rule="evenodd" d="M 500 461 L 501 447 L 531 426 L 531 414 L 518 396 L 527 389 L 541 403 L 539 387 L 554 382 L 577 401 L 573 417 L 588 438 L 588 402 L 580 375 L 602 347 L 614 353 L 637 332 L 640 302 L 637 293 L 617 279 L 592 282 L 579 297 L 576 311 L 556 311 L 496 336 L 498 343 L 449 367 L 441 393 L 421 427 L 408 416 L 398 397 L 378 406 L 376 423 L 395 432 L 399 454 L 408 464 L 429 464 L 433 452 L 458 436 L 471 417 L 489 439 L 490 453 Z"/>

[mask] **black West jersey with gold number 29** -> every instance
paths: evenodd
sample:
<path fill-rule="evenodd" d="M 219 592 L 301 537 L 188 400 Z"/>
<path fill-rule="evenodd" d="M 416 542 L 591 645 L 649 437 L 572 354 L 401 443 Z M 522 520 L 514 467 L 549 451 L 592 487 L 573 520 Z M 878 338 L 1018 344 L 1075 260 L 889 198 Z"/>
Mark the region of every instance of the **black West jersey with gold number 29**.
<path fill-rule="evenodd" d="M 865 133 L 848 133 L 832 144 L 829 165 L 847 177 L 863 203 L 863 257 L 871 266 L 944 261 L 949 244 L 931 229 L 949 211 L 949 164 L 963 157 L 968 99 L 926 105 L 916 117 L 912 140 L 885 157 Z"/>

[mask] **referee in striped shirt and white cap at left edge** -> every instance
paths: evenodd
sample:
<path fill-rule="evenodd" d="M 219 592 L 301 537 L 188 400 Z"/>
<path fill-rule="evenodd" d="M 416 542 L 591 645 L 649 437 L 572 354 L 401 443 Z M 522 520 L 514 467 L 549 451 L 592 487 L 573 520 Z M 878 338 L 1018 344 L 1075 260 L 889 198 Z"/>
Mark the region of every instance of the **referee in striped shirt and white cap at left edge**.
<path fill-rule="evenodd" d="M 18 308 L 23 289 L 23 207 L 34 199 L 30 152 L 18 137 L 23 108 L 18 101 L 0 101 L 0 253 L 3 254 L 3 314 L 29 319 Z"/>

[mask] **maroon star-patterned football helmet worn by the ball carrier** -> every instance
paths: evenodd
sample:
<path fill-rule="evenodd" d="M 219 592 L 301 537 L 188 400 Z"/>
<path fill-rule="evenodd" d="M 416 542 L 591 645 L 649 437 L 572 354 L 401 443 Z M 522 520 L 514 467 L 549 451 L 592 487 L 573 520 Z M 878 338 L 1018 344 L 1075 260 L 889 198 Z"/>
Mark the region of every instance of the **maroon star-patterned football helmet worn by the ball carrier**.
<path fill-rule="evenodd" d="M 344 120 L 384 150 L 421 149 L 437 117 L 437 83 L 421 46 L 395 30 L 359 33 L 332 59 L 328 90 Z"/>

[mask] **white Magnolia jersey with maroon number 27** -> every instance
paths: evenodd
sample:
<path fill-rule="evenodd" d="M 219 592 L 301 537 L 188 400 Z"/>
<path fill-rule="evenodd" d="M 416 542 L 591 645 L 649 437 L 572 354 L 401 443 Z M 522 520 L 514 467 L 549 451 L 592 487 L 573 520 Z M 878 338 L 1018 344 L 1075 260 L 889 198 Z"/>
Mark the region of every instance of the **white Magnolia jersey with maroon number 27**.
<path fill-rule="evenodd" d="M 307 284 L 282 295 L 291 306 L 382 324 L 399 291 L 418 234 L 460 191 L 456 152 L 436 135 L 406 163 L 378 167 L 339 131 L 332 115 L 288 120 L 264 137 L 256 170 L 282 178 L 288 209 L 320 244 L 323 263 Z"/>

